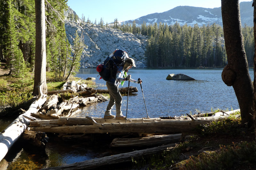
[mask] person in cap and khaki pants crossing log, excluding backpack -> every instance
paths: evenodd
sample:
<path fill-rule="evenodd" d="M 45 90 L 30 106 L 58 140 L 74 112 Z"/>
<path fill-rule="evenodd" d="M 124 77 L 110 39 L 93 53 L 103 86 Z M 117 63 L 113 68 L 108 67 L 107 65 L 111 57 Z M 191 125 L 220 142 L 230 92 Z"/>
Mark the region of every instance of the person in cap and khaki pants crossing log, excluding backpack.
<path fill-rule="evenodd" d="M 122 106 L 122 96 L 118 90 L 118 86 L 121 84 L 122 81 L 128 81 L 130 79 L 133 83 L 141 84 L 142 81 L 140 78 L 138 80 L 131 79 L 131 75 L 127 75 L 126 72 L 133 67 L 136 67 L 135 62 L 132 58 L 126 58 L 123 65 L 121 65 L 116 73 L 116 78 L 111 78 L 106 82 L 108 91 L 109 91 L 109 103 L 107 106 L 107 110 L 105 112 L 104 118 L 116 118 L 125 120 L 126 117 L 122 114 L 121 106 Z M 125 77 L 125 75 L 127 75 Z M 116 116 L 111 114 L 111 109 L 114 107 L 114 104 L 116 104 Z"/>

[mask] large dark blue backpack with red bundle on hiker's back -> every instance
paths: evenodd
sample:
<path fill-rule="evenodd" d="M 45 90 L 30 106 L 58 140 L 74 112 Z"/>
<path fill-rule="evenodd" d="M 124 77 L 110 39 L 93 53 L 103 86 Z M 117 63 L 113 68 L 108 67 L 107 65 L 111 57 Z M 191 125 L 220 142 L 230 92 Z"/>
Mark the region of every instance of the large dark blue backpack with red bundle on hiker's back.
<path fill-rule="evenodd" d="M 119 70 L 121 66 L 124 66 L 124 60 L 126 58 L 129 58 L 127 53 L 120 49 L 108 55 L 104 63 L 97 66 L 96 70 L 99 72 L 100 78 L 103 78 L 105 81 L 116 78 L 117 70 Z"/>

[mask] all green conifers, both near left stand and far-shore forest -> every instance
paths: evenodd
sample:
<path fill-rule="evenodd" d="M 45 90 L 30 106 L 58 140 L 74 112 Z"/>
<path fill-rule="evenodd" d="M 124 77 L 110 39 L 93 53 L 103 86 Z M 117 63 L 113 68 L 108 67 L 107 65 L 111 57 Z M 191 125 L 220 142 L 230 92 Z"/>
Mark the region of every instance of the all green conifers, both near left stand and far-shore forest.
<path fill-rule="evenodd" d="M 83 44 L 82 36 L 76 33 L 74 42 L 68 42 L 65 32 L 64 10 L 66 0 L 48 0 L 46 15 L 46 70 L 55 78 L 67 77 L 80 68 Z M 69 20 L 78 16 L 69 14 Z M 104 23 L 97 24 L 82 16 L 82 23 L 92 24 L 124 32 L 145 35 L 147 46 L 145 57 L 149 68 L 197 68 L 223 67 L 227 64 L 223 29 L 220 25 L 180 26 L 155 23 L 154 25 Z M 244 48 L 249 67 L 253 66 L 253 27 L 244 25 Z M 35 59 L 35 2 L 34 0 L 0 1 L 0 59 L 6 60 L 10 74 L 19 78 L 18 86 L 32 83 L 30 80 Z M 71 45 L 72 44 L 72 45 Z"/>

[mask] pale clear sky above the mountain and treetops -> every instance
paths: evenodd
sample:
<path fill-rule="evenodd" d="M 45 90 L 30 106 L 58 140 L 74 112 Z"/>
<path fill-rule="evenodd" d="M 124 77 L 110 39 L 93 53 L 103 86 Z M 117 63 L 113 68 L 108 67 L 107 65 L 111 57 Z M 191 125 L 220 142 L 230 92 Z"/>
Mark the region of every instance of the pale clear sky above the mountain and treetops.
<path fill-rule="evenodd" d="M 240 0 L 250 2 L 252 0 Z M 221 0 L 68 0 L 68 6 L 76 12 L 79 18 L 82 14 L 85 20 L 89 18 L 93 23 L 99 23 L 100 18 L 106 24 L 126 21 L 142 16 L 169 11 L 177 6 L 195 6 L 203 8 L 218 8 Z"/>

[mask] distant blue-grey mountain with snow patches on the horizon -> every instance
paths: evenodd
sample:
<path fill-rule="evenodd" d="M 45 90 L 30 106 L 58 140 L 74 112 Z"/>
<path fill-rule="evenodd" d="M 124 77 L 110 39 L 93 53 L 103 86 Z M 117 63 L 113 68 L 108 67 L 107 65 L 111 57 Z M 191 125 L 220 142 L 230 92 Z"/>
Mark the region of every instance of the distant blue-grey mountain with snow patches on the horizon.
<path fill-rule="evenodd" d="M 253 26 L 253 7 L 252 2 L 241 2 L 240 3 L 240 16 L 242 26 L 246 24 L 247 26 Z M 213 23 L 222 26 L 222 16 L 221 7 L 219 8 L 201 8 L 193 6 L 177 6 L 169 11 L 162 13 L 153 13 L 146 16 L 134 19 L 135 23 L 138 25 L 145 22 L 147 25 L 154 23 L 167 23 L 167 25 L 173 25 L 178 22 L 180 25 L 187 24 L 188 26 L 193 26 L 198 24 L 203 26 L 204 24 Z M 122 24 L 133 23 L 134 20 L 128 20 L 121 22 Z"/>

